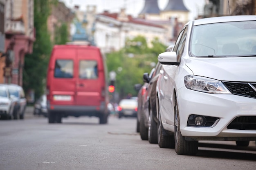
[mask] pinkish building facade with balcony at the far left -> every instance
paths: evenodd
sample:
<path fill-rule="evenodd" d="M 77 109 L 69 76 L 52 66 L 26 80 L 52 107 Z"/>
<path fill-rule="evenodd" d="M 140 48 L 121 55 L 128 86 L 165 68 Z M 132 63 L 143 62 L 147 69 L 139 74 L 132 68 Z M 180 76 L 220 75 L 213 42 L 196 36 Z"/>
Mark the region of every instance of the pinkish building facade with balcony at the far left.
<path fill-rule="evenodd" d="M 35 41 L 34 0 L 7 0 L 5 4 L 6 65 L 1 83 L 22 85 L 25 54 Z"/>

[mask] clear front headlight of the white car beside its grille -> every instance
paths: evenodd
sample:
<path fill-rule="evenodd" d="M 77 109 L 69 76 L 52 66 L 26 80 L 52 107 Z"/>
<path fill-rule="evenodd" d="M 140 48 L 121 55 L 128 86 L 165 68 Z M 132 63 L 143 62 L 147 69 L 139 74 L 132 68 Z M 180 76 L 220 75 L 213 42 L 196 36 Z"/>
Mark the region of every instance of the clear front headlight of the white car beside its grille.
<path fill-rule="evenodd" d="M 184 83 L 186 88 L 200 92 L 212 94 L 231 94 L 221 81 L 201 76 L 185 76 Z"/>

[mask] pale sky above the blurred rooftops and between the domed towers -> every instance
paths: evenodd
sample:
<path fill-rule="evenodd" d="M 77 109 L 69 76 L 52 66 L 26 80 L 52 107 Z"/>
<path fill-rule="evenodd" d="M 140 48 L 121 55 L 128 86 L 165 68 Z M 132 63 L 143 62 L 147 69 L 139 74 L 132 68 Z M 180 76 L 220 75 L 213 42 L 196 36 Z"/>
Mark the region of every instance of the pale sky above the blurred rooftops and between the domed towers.
<path fill-rule="evenodd" d="M 86 9 L 87 5 L 96 5 L 97 13 L 108 10 L 111 13 L 120 12 L 121 8 L 126 7 L 126 13 L 137 17 L 144 7 L 145 0 L 60 0 L 67 7 L 73 8 L 79 5 L 81 10 Z M 184 5 L 190 11 L 189 20 L 195 19 L 198 14 L 202 14 L 205 0 L 183 0 Z M 168 0 L 158 0 L 159 9 L 162 10 L 168 3 Z"/>

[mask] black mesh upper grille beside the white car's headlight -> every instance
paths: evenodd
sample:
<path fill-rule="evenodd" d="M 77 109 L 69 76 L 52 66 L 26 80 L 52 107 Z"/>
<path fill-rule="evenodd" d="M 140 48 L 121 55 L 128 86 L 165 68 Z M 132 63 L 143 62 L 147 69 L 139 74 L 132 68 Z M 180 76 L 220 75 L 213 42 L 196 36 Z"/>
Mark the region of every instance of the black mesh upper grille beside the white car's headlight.
<path fill-rule="evenodd" d="M 223 81 L 232 94 L 256 98 L 256 83 L 240 83 Z"/>

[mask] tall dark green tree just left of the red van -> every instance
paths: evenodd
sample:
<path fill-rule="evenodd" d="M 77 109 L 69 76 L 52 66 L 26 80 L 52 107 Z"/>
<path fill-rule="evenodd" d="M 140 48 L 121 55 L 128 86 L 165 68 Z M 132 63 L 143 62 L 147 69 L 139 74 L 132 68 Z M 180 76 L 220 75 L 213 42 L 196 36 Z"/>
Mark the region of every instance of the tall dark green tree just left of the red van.
<path fill-rule="evenodd" d="M 52 51 L 47 19 L 51 13 L 51 5 L 57 2 L 58 0 L 34 0 L 36 41 L 34 41 L 33 53 L 25 56 L 23 88 L 25 92 L 34 89 L 35 98 L 39 98 L 44 93 L 47 65 Z"/>

